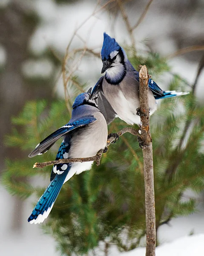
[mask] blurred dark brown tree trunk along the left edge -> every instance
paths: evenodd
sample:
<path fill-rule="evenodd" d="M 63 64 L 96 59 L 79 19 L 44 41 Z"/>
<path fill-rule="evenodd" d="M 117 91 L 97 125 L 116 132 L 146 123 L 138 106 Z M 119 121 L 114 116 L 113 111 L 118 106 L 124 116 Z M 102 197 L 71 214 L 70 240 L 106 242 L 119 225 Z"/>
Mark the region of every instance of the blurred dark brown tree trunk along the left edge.
<path fill-rule="evenodd" d="M 11 2 L 5 9 L 0 9 L 0 45 L 6 50 L 6 63 L 0 70 L 0 172 L 3 171 L 5 157 L 22 157 L 18 148 L 6 148 L 3 143 L 4 134 L 11 131 L 11 116 L 16 115 L 27 100 L 47 98 L 51 94 L 44 86 L 30 90 L 32 84 L 25 81 L 21 72 L 23 61 L 29 58 L 29 38 L 37 25 L 37 20 L 31 18 L 20 6 L 20 2 Z M 11 226 L 18 229 L 23 202 L 19 198 L 14 200 L 14 220 Z"/>

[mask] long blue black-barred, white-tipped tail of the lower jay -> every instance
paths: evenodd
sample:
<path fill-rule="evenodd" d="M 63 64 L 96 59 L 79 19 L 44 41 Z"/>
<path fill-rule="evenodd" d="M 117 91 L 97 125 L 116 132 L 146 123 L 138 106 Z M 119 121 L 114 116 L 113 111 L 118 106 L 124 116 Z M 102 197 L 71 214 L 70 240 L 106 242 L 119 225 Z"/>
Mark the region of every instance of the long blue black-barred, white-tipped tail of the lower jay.
<path fill-rule="evenodd" d="M 62 174 L 55 176 L 55 179 L 52 180 L 44 194 L 38 200 L 32 214 L 28 218 L 28 222 L 37 224 L 43 222 L 48 217 L 68 172 L 69 169 L 65 170 Z"/>

